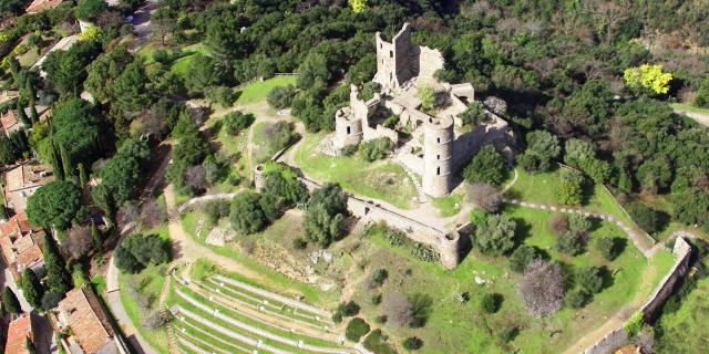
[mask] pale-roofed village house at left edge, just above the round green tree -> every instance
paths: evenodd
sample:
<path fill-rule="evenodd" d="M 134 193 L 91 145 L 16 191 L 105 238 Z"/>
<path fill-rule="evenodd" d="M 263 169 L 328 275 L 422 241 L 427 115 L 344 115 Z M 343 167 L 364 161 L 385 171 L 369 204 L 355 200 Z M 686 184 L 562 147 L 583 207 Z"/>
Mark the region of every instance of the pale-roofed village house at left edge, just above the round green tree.
<path fill-rule="evenodd" d="M 25 163 L 4 174 L 4 206 L 16 214 L 24 212 L 27 198 L 42 185 L 54 179 L 49 165 Z"/>

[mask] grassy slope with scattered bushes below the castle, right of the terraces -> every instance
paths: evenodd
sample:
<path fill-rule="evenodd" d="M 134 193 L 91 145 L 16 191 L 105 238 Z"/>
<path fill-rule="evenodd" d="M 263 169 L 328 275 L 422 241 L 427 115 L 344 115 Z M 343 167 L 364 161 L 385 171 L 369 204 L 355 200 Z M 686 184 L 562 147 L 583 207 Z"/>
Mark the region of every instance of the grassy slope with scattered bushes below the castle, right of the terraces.
<path fill-rule="evenodd" d="M 397 341 L 408 336 L 422 339 L 425 343 L 422 351 L 425 353 L 556 353 L 596 329 L 608 316 L 623 311 L 628 302 L 645 300 L 674 261 L 667 252 L 646 260 L 629 241 L 617 259 L 606 261 L 593 244 L 602 236 L 624 236 L 612 223 L 603 223 L 592 232 L 585 253 L 577 257 L 559 254 L 553 249 L 554 236 L 546 230 L 551 212 L 521 207 L 508 207 L 504 212 L 525 226 L 525 233 L 528 235 L 525 243 L 548 252 L 552 259 L 563 264 L 564 270 L 605 266 L 613 274 L 612 283 L 580 311 L 563 309 L 538 320 L 530 316 L 524 309 L 516 290 L 521 275 L 508 270 L 506 258 L 472 252 L 456 269 L 445 271 L 440 264 L 413 258 L 405 248 L 391 247 L 381 235 L 373 235 L 367 238 L 374 244 L 372 254 L 367 257 L 367 267 L 387 269 L 389 279 L 381 290 L 357 288 L 356 302 L 362 305 L 369 319 L 373 319 L 381 314 L 381 309 L 371 304 L 373 294 L 382 293 L 386 296 L 392 291 L 402 291 L 408 295 L 428 295 L 433 306 L 424 329 L 383 326 Z M 477 284 L 475 277 L 485 280 L 485 283 Z M 470 301 L 461 303 L 454 300 L 453 295 L 458 292 L 467 293 Z M 504 296 L 502 309 L 496 314 L 485 314 L 480 310 L 481 298 L 487 292 Z M 512 342 L 501 339 L 505 329 L 514 327 L 520 334 Z"/>

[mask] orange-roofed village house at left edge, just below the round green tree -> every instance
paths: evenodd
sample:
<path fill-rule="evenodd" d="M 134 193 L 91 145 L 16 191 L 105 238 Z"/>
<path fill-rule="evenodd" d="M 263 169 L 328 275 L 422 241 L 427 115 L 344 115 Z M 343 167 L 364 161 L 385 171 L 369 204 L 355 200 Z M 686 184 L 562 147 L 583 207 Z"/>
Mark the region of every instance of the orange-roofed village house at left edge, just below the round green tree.
<path fill-rule="evenodd" d="M 44 259 L 44 231 L 32 227 L 24 212 L 20 212 L 0 225 L 0 250 L 2 260 L 10 270 L 10 274 L 17 282 L 22 271 L 33 270 L 42 274 Z"/>

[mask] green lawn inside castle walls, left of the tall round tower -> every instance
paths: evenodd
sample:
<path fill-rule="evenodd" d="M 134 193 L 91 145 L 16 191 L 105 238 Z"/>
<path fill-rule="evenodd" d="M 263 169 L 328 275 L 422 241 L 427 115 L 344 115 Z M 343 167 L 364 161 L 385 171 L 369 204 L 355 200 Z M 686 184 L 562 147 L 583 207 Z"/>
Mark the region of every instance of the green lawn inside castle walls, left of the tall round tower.
<path fill-rule="evenodd" d="M 408 209 L 417 191 L 401 166 L 391 162 L 367 163 L 358 156 L 332 157 L 315 153 L 322 134 L 308 134 L 296 153 L 296 163 L 311 178 L 332 181 L 351 192 Z"/>

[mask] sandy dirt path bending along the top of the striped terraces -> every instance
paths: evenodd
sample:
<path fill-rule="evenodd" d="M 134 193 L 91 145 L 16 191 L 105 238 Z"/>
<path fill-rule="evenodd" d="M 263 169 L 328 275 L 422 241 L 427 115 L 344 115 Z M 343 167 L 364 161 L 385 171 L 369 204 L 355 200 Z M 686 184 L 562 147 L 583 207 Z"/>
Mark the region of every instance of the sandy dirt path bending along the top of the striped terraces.
<path fill-rule="evenodd" d="M 175 209 L 175 190 L 173 185 L 165 188 L 165 204 L 167 205 L 167 210 Z M 183 229 L 179 217 L 171 218 L 167 223 L 167 230 L 173 246 L 174 261 L 191 264 L 198 258 L 206 258 L 228 271 L 238 272 L 254 279 L 263 279 L 259 273 L 248 269 L 236 259 L 217 254 L 209 248 L 197 243 L 197 241 Z"/>

